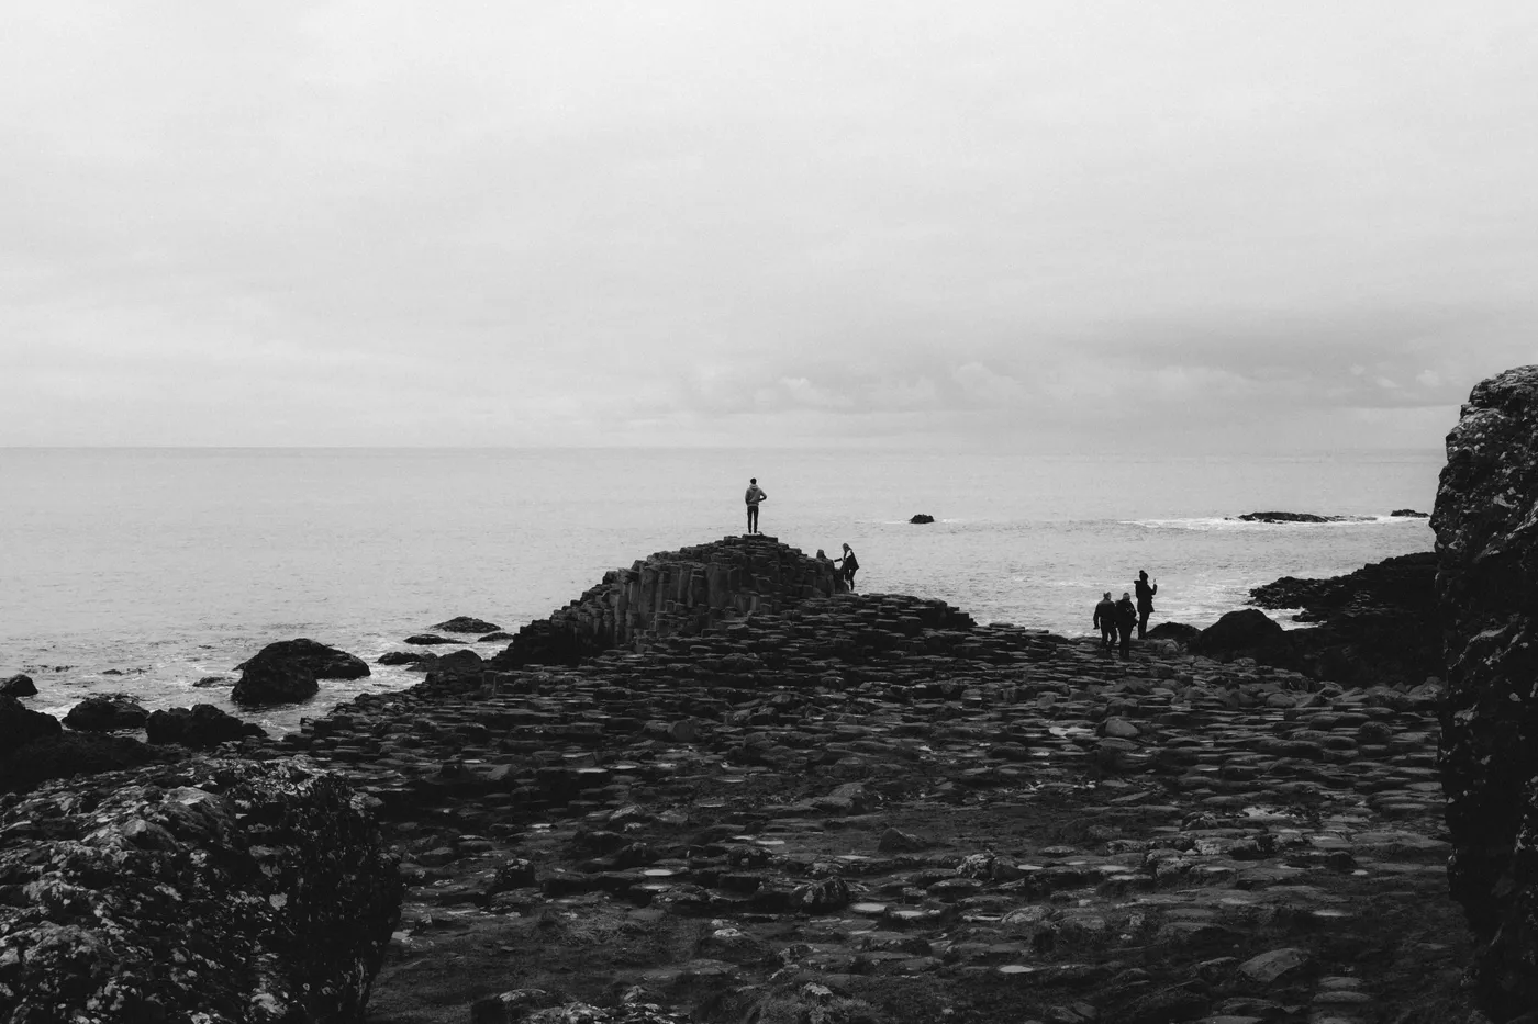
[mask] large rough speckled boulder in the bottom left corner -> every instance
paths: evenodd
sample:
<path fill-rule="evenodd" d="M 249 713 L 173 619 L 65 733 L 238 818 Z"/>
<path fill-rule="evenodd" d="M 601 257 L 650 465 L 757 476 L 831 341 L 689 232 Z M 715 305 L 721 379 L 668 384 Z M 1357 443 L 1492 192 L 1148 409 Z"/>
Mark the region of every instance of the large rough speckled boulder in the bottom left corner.
<path fill-rule="evenodd" d="M 194 761 L 0 816 L 8 1021 L 361 1021 L 401 881 L 340 778 Z"/>

